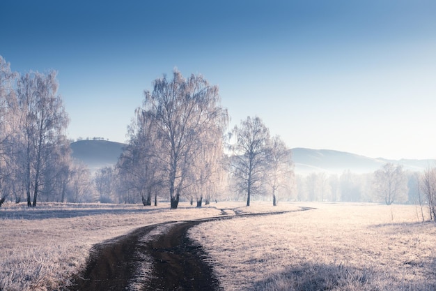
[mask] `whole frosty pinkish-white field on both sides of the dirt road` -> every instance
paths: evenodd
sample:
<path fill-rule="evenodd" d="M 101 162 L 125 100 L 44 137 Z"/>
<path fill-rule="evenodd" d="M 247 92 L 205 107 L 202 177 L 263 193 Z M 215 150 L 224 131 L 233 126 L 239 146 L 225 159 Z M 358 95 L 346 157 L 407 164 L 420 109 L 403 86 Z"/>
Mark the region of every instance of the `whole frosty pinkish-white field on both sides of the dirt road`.
<path fill-rule="evenodd" d="M 62 290 L 91 246 L 137 227 L 222 216 L 288 214 L 201 223 L 190 237 L 208 251 L 224 290 L 436 290 L 435 223 L 412 205 L 219 202 L 180 204 L 3 204 L 0 290 Z M 311 207 L 307 211 L 300 207 Z M 295 210 L 295 211 L 294 211 Z"/>

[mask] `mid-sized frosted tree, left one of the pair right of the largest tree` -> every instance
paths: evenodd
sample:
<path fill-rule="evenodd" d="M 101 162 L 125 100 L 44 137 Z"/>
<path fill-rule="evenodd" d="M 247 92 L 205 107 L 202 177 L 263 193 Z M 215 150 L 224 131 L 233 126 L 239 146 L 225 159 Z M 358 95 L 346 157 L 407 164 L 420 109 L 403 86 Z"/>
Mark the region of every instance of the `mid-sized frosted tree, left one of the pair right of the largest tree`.
<path fill-rule="evenodd" d="M 260 193 L 265 182 L 270 130 L 259 117 L 247 117 L 240 127 L 233 128 L 233 135 L 233 175 L 240 181 L 240 189 L 247 193 L 247 206 L 250 206 L 251 195 Z"/>

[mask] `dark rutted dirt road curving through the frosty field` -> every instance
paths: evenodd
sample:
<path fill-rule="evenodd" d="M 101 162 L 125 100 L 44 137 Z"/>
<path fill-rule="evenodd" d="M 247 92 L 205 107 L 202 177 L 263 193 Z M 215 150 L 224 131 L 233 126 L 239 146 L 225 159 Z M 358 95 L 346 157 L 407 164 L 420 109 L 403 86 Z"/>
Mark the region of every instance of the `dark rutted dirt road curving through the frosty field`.
<path fill-rule="evenodd" d="M 104 241 L 93 247 L 86 269 L 73 278 L 69 290 L 222 290 L 212 267 L 205 263 L 207 254 L 187 237 L 187 230 L 205 221 L 260 215 L 267 214 L 149 225 Z M 166 230 L 157 232 L 159 227 Z M 158 234 L 150 239 L 151 232 Z M 141 274 L 144 262 L 150 264 L 150 274 Z"/>

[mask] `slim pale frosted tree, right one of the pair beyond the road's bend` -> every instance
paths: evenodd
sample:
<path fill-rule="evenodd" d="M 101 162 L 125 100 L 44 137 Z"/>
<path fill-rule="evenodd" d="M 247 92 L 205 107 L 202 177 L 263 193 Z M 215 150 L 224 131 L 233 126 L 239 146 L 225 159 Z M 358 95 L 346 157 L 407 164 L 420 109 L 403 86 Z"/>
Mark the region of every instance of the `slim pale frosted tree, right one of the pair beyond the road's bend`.
<path fill-rule="evenodd" d="M 285 188 L 293 174 L 291 152 L 281 138 L 272 137 L 268 156 L 267 184 L 272 191 L 272 205 L 277 205 L 277 192 Z"/>

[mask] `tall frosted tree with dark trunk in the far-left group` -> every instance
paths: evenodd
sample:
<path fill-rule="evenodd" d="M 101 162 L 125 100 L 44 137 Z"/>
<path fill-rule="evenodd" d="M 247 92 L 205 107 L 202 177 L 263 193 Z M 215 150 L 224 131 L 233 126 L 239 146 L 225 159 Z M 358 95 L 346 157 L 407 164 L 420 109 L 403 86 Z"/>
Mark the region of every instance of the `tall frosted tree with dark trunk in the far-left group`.
<path fill-rule="evenodd" d="M 57 154 L 59 140 L 63 140 L 69 122 L 61 96 L 56 94 L 57 89 L 54 71 L 47 75 L 26 73 L 17 83 L 24 144 L 24 182 L 29 207 L 36 206 L 41 189 L 50 183 L 43 174 L 56 163 L 54 155 Z"/>

